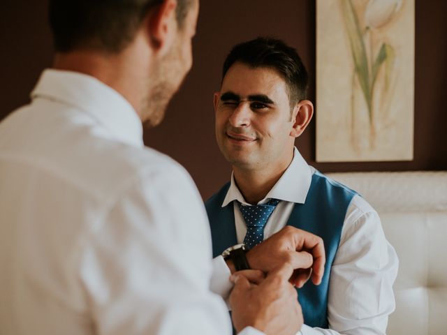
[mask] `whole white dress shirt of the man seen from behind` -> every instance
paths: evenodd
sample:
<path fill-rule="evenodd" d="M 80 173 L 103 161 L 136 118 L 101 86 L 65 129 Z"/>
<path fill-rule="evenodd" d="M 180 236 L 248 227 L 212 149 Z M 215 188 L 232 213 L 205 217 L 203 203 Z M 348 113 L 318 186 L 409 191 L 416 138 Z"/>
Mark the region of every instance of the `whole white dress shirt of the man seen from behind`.
<path fill-rule="evenodd" d="M 231 334 L 200 195 L 131 105 L 59 70 L 31 97 L 0 124 L 0 334 Z"/>

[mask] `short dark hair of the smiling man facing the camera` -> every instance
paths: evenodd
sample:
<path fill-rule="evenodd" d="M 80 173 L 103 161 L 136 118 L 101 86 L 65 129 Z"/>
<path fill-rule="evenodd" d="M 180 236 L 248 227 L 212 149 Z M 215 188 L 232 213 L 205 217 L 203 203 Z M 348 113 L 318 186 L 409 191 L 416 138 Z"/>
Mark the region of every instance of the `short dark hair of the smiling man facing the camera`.
<path fill-rule="evenodd" d="M 298 52 L 282 40 L 258 37 L 237 44 L 223 62 L 222 80 L 228 69 L 240 62 L 253 68 L 273 68 L 284 78 L 291 107 L 306 98 L 308 75 Z"/>

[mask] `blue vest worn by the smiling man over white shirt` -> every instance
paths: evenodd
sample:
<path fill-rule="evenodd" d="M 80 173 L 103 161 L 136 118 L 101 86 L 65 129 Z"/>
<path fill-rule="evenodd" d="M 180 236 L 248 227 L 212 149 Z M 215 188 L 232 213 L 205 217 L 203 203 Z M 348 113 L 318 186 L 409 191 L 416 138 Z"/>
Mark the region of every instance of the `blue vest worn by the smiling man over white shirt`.
<path fill-rule="evenodd" d="M 205 202 L 212 234 L 213 257 L 237 244 L 233 202 L 221 207 L 230 183 Z M 287 225 L 318 235 L 324 241 L 326 264 L 320 285 L 308 281 L 298 290 L 305 324 L 328 328 L 330 267 L 337 253 L 346 211 L 354 191 L 315 172 L 304 204 L 295 204 Z"/>

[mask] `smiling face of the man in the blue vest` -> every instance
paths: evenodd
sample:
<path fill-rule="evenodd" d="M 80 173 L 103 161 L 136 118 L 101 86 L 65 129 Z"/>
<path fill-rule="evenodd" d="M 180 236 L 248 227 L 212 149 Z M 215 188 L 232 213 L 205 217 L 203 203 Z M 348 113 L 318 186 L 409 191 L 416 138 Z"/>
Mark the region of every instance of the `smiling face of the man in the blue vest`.
<path fill-rule="evenodd" d="M 233 168 L 288 165 L 295 137 L 286 82 L 277 70 L 236 62 L 214 94 L 216 139 Z"/>

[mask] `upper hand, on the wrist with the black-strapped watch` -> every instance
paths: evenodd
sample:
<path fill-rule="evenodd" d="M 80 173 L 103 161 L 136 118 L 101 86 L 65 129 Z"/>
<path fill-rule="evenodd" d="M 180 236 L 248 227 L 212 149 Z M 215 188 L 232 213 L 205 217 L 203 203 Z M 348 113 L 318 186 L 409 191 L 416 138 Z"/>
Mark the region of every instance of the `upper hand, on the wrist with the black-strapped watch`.
<path fill-rule="evenodd" d="M 295 269 L 290 281 L 298 288 L 306 283 L 311 274 L 312 282 L 318 285 L 324 274 L 323 239 L 305 230 L 286 225 L 248 251 L 247 260 L 252 269 L 266 273 L 281 265 L 289 265 Z"/>

